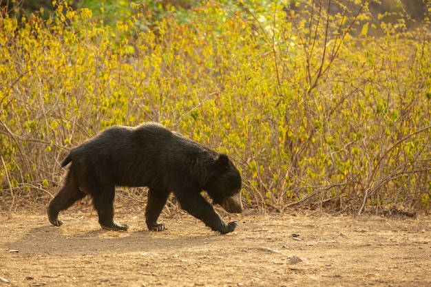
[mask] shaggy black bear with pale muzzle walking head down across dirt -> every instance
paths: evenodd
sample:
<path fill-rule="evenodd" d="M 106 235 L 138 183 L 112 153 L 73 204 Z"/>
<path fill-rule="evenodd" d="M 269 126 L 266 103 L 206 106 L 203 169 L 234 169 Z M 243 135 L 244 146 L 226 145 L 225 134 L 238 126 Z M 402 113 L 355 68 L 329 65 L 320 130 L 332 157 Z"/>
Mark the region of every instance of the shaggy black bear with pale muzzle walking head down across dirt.
<path fill-rule="evenodd" d="M 116 186 L 149 188 L 145 222 L 151 231 L 165 230 L 157 219 L 171 192 L 182 209 L 223 234 L 236 222 L 224 223 L 200 193 L 207 191 L 229 213 L 242 212 L 241 176 L 228 156 L 157 123 L 109 127 L 72 149 L 61 166 L 70 162 L 65 184 L 48 206 L 55 226 L 62 224 L 59 211 L 91 195 L 102 228 L 127 230 L 114 223 Z"/>

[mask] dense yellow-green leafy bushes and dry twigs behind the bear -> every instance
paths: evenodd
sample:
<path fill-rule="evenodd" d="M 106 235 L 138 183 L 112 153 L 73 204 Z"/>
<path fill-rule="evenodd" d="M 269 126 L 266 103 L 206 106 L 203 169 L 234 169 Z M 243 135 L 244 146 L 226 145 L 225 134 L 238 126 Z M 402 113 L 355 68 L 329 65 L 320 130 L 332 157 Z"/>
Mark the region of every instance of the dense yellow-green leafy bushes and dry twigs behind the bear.
<path fill-rule="evenodd" d="M 430 12 L 429 0 L 2 0 L 0 211 L 44 210 L 70 149 L 154 120 L 229 154 L 250 209 L 430 213 Z"/>

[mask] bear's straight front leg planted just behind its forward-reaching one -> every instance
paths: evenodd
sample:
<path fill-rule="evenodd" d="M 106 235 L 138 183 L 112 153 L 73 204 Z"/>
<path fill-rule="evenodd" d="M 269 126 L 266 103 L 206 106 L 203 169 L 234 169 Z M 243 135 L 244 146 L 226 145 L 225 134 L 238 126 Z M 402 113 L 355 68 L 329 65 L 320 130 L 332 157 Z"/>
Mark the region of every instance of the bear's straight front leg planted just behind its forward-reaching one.
<path fill-rule="evenodd" d="M 145 223 L 151 231 L 164 231 L 165 224 L 157 222 L 158 216 L 162 212 L 163 206 L 167 202 L 169 191 L 162 189 L 149 189 L 147 207 L 145 208 Z"/>

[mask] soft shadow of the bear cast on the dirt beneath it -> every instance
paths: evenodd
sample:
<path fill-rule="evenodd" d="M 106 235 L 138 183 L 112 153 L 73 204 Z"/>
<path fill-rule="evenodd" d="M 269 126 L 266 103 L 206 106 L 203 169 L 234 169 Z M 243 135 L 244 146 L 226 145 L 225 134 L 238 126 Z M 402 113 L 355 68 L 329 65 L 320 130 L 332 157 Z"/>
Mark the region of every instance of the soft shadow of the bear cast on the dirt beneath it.
<path fill-rule="evenodd" d="M 88 255 L 105 253 L 169 252 L 193 246 L 204 246 L 226 236 L 208 231 L 207 234 L 178 235 L 174 230 L 106 231 L 101 228 L 74 233 L 70 228 L 44 224 L 30 228 L 19 239 L 8 242 L 5 250 L 18 250 L 20 255 Z"/>

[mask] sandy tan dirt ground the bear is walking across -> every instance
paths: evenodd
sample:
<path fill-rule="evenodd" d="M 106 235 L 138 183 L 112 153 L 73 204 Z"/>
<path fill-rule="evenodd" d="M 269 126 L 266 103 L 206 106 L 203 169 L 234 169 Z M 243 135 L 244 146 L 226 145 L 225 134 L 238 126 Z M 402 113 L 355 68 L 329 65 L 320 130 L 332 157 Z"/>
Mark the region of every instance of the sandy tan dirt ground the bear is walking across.
<path fill-rule="evenodd" d="M 431 286 L 431 218 L 320 215 L 230 217 L 213 233 L 186 213 L 127 232 L 103 231 L 94 212 L 0 214 L 0 286 Z M 229 215 L 222 217 L 229 220 Z"/>

